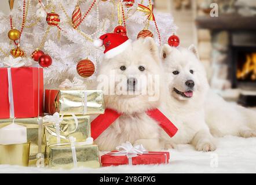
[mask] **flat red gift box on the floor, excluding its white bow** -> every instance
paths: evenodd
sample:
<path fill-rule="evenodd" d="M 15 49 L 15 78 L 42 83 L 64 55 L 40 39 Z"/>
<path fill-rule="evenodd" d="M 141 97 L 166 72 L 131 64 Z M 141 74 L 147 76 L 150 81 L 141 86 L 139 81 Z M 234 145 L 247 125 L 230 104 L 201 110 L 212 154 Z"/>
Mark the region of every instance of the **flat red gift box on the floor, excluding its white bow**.
<path fill-rule="evenodd" d="M 116 151 L 111 151 L 111 153 Z M 127 156 L 115 156 L 111 153 L 101 156 L 102 166 L 118 166 L 129 164 Z M 132 165 L 139 164 L 167 164 L 170 159 L 170 153 L 168 151 L 148 151 L 148 153 L 132 157 Z"/>

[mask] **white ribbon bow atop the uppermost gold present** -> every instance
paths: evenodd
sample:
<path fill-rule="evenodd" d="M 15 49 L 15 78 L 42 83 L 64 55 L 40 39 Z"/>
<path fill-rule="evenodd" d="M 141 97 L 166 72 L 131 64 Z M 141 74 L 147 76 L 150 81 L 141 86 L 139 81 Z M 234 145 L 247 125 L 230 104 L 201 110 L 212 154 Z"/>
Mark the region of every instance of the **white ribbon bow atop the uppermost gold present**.
<path fill-rule="evenodd" d="M 72 82 L 69 79 L 65 79 L 58 88 L 61 90 L 81 90 L 86 89 L 86 84 L 83 83 L 83 80 L 74 77 Z"/>

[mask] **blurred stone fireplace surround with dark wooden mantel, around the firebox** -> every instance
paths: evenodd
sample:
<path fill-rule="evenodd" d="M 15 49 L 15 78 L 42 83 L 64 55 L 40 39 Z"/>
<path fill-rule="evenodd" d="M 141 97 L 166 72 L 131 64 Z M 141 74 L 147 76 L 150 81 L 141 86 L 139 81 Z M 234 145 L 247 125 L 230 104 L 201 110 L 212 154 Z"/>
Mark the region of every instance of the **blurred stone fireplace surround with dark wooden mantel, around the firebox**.
<path fill-rule="evenodd" d="M 196 18 L 199 29 L 209 29 L 211 35 L 210 84 L 218 90 L 233 90 L 244 106 L 256 106 L 256 80 L 237 80 L 237 55 L 240 51 L 256 52 L 256 16 L 242 17 L 238 14 L 223 14 L 219 17 Z M 234 90 L 236 89 L 236 90 Z M 235 94 L 235 93 L 233 93 Z M 227 97 L 229 98 L 229 97 Z M 254 102 L 248 105 L 246 101 Z M 249 104 L 250 104 L 249 103 Z"/>

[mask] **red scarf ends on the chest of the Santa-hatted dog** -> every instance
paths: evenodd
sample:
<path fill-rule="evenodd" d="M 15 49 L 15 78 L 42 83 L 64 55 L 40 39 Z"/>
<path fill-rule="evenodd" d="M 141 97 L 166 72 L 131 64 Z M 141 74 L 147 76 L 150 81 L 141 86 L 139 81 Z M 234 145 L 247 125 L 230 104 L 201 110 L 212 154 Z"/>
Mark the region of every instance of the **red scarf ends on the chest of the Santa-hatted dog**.
<path fill-rule="evenodd" d="M 178 131 L 178 128 L 175 127 L 173 123 L 169 119 L 167 119 L 166 116 L 160 110 L 158 109 L 152 109 L 148 110 L 146 112 L 149 117 L 151 117 L 153 120 L 157 121 L 166 131 L 166 133 L 173 137 L 176 132 Z M 98 136 L 101 135 L 107 129 L 118 117 L 120 117 L 122 114 L 116 112 L 116 110 L 113 109 L 105 109 L 105 113 L 101 114 L 100 116 L 96 117 L 91 123 L 91 132 L 92 132 L 92 138 L 96 139 Z"/>

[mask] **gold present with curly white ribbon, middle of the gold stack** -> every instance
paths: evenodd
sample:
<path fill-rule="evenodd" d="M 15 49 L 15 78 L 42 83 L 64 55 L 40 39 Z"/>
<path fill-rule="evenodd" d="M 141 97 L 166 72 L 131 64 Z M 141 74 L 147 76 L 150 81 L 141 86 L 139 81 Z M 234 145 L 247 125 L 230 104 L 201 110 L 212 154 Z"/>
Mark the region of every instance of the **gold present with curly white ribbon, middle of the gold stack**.
<path fill-rule="evenodd" d="M 91 136 L 90 116 L 53 116 L 43 117 L 43 143 L 46 147 L 56 143 L 67 143 L 73 136 L 76 141 L 85 141 Z"/>

